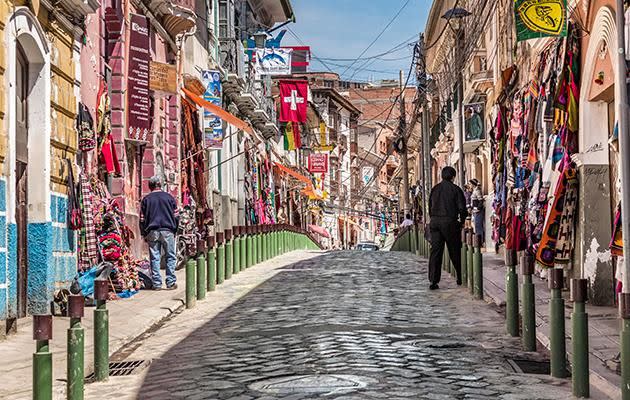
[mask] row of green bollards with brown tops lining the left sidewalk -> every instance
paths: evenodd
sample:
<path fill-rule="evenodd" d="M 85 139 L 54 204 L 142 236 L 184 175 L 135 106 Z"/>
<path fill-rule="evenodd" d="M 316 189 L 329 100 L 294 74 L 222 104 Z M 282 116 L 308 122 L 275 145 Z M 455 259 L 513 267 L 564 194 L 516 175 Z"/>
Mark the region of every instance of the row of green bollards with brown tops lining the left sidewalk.
<path fill-rule="evenodd" d="M 232 236 L 234 235 L 234 236 Z M 186 262 L 186 308 L 206 298 L 207 292 L 234 274 L 293 250 L 319 249 L 315 238 L 304 230 L 289 225 L 236 226 L 218 232 L 208 241 L 197 243 L 196 257 Z M 109 281 L 94 281 L 94 380 L 109 378 Z M 68 400 L 82 400 L 85 388 L 85 330 L 83 295 L 70 295 L 67 333 Z M 53 398 L 52 315 L 33 316 L 33 399 Z"/>

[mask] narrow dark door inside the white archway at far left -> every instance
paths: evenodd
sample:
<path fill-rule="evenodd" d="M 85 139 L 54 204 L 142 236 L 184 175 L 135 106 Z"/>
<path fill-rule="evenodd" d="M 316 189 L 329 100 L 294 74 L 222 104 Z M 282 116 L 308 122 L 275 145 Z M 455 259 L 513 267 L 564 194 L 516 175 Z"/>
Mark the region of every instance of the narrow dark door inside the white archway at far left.
<path fill-rule="evenodd" d="M 18 46 L 16 71 L 15 223 L 17 225 L 18 318 L 26 316 L 28 282 L 28 63 Z"/>

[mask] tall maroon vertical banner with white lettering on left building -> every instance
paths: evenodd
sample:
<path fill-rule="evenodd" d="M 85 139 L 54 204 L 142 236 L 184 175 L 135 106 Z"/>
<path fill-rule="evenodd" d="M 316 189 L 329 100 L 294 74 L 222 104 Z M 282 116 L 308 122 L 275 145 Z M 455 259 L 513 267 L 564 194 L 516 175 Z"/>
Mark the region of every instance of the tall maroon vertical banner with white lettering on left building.
<path fill-rule="evenodd" d="M 149 97 L 149 22 L 144 15 L 131 14 L 129 67 L 127 70 L 127 138 L 146 141 L 151 128 Z"/>

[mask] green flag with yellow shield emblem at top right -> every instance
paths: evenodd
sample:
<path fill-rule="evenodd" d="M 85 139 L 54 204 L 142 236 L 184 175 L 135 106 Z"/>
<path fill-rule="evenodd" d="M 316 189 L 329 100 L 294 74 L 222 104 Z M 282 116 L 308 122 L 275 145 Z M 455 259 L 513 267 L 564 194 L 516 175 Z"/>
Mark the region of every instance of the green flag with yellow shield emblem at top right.
<path fill-rule="evenodd" d="M 515 0 L 516 36 L 522 40 L 567 35 L 567 0 Z"/>

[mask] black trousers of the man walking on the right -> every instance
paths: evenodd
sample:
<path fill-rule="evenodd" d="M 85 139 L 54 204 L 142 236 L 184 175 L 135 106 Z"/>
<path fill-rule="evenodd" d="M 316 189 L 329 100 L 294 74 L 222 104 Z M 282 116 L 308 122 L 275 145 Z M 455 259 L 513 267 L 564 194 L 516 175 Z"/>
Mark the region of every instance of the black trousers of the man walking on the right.
<path fill-rule="evenodd" d="M 448 255 L 453 262 L 457 280 L 462 279 L 462 227 L 458 221 L 431 221 L 431 257 L 429 258 L 429 282 L 440 283 L 442 277 L 442 259 L 444 244 L 448 246 Z"/>

